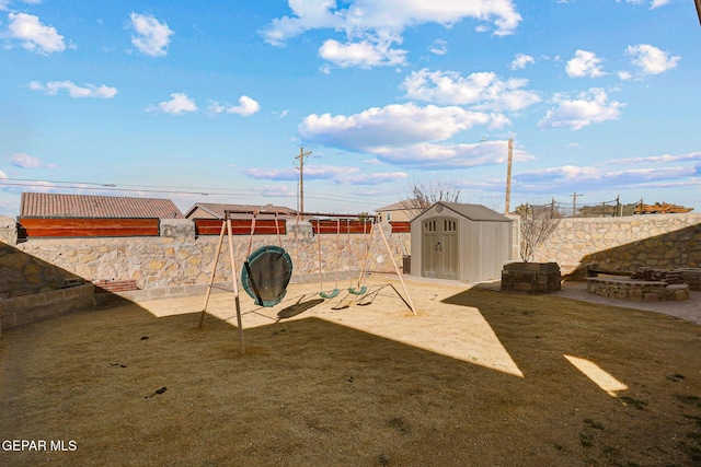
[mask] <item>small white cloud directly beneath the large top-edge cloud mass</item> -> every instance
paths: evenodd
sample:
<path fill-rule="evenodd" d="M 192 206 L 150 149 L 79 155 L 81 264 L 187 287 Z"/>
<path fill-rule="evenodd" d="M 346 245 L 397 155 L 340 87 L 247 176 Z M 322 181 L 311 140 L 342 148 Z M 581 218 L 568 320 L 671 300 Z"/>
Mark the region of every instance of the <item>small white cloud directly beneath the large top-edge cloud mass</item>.
<path fill-rule="evenodd" d="M 404 65 L 406 50 L 392 48 L 391 45 L 391 40 L 360 40 L 341 44 L 337 40 L 329 39 L 319 48 L 319 56 L 341 68 L 369 69 Z"/>

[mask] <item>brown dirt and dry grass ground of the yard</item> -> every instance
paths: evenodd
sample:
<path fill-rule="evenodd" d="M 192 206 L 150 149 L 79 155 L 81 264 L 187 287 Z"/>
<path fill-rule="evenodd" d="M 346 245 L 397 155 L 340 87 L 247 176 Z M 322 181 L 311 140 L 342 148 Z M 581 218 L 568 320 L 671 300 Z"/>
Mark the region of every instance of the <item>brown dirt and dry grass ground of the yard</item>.
<path fill-rule="evenodd" d="M 0 465 L 701 465 L 701 326 L 395 279 L 242 292 L 243 354 L 231 293 L 4 331 Z"/>

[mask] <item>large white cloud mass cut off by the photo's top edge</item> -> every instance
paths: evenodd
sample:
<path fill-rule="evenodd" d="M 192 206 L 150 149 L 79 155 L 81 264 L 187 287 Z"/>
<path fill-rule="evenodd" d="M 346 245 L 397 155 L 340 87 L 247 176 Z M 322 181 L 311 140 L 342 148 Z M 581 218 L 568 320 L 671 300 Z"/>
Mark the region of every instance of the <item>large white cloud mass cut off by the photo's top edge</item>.
<path fill-rule="evenodd" d="M 393 48 L 402 43 L 407 27 L 438 23 L 450 27 L 466 17 L 483 22 L 497 36 L 513 34 L 521 16 L 512 0 L 430 2 L 397 0 L 349 0 L 340 8 L 335 0 L 289 0 L 292 13 L 274 19 L 261 35 L 275 46 L 312 30 L 334 30 L 345 33 L 346 42 L 327 39 L 319 55 L 342 67 L 395 66 L 405 62 L 406 51 Z M 487 30 L 487 28 L 484 28 Z M 435 48 L 440 52 L 443 48 Z"/>

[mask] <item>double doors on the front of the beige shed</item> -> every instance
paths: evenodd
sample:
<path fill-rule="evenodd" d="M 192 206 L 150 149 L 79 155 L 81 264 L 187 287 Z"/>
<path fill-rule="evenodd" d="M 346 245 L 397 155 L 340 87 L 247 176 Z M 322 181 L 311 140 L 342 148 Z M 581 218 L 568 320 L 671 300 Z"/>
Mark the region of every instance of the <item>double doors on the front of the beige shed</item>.
<path fill-rule="evenodd" d="M 422 276 L 437 279 L 459 279 L 458 221 L 434 218 L 423 223 Z"/>

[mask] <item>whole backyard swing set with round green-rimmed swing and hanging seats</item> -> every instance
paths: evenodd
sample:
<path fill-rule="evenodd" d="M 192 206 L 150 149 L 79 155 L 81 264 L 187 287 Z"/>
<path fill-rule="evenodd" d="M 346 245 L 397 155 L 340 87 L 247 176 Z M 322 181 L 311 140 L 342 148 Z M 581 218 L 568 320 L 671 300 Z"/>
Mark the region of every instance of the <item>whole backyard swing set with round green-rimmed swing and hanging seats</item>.
<path fill-rule="evenodd" d="M 277 211 L 264 211 L 264 210 L 225 210 L 225 218 L 221 223 L 221 231 L 219 232 L 219 242 L 217 244 L 217 248 L 215 252 L 215 261 L 211 267 L 211 276 L 209 277 L 209 282 L 207 284 L 207 292 L 205 294 L 205 304 L 203 306 L 202 315 L 199 317 L 199 327 L 202 328 L 205 319 L 205 314 L 207 313 L 207 305 L 209 303 L 209 297 L 211 295 L 211 289 L 214 288 L 215 276 L 217 272 L 217 266 L 219 262 L 219 256 L 221 254 L 221 246 L 223 244 L 225 233 L 228 236 L 228 245 L 229 245 L 229 260 L 231 262 L 231 282 L 233 285 L 233 299 L 237 312 L 237 328 L 239 334 L 239 351 L 241 353 L 245 353 L 245 346 L 243 341 L 243 325 L 241 319 L 241 303 L 239 300 L 239 284 L 237 277 L 237 262 L 233 254 L 233 230 L 232 230 L 232 217 L 235 214 L 248 214 L 251 215 L 251 225 L 249 232 L 249 246 L 246 252 L 246 259 L 243 262 L 241 268 L 241 285 L 245 290 L 245 292 L 254 300 L 254 303 L 258 306 L 263 307 L 272 307 L 280 303 L 280 301 L 285 297 L 287 292 L 287 285 L 292 276 L 292 261 L 283 247 L 283 240 L 280 236 L 280 227 L 278 221 L 278 212 Z M 255 234 L 255 224 L 256 219 L 260 214 L 274 214 L 275 215 L 275 231 L 277 234 L 278 245 L 265 245 L 253 253 L 251 252 L 253 245 L 253 235 Z M 347 242 L 348 242 L 348 254 L 350 252 L 350 218 L 358 218 L 358 215 L 350 214 L 329 214 L 329 213 L 298 213 L 299 215 L 314 217 L 317 218 L 317 249 L 319 255 L 319 283 L 320 283 L 320 292 L 319 295 L 322 299 L 334 299 L 341 293 L 341 289 L 338 289 L 338 269 L 341 269 L 341 220 L 346 219 L 346 233 L 347 233 Z M 370 219 L 370 231 L 369 234 L 367 232 L 366 225 L 367 222 L 364 222 L 363 232 L 364 232 L 364 244 L 365 244 L 365 255 L 363 260 L 363 266 L 360 268 L 360 276 L 358 277 L 357 285 L 353 287 L 353 279 L 350 278 L 350 284 L 347 288 L 348 294 L 357 296 L 360 301 L 360 304 L 368 305 L 372 303 L 375 295 L 370 301 L 365 301 L 364 299 L 370 295 L 368 293 L 367 285 L 360 285 L 366 271 L 366 265 L 368 260 L 368 256 L 370 253 L 370 244 L 372 242 L 372 236 L 375 232 L 375 223 L 377 218 L 375 215 L 365 215 Z M 336 226 L 336 267 L 335 267 L 335 288 L 333 290 L 324 289 L 323 283 L 323 261 L 322 261 L 322 248 L 321 248 L 321 221 L 320 218 L 336 218 L 335 226 Z M 411 310 L 411 312 L 415 315 L 416 311 L 412 303 L 411 296 L 409 295 L 409 291 L 406 290 L 406 285 L 404 280 L 402 279 L 402 275 L 399 271 L 399 267 L 397 266 L 397 261 L 391 254 L 391 248 L 389 242 L 387 241 L 387 236 L 382 229 L 378 229 L 382 236 L 382 241 L 384 242 L 384 247 L 389 254 L 390 259 L 392 260 L 392 265 L 394 267 L 394 271 L 399 277 L 399 280 L 404 290 L 404 294 L 406 299 L 404 299 L 394 287 L 392 289 L 402 299 L 404 304 Z M 297 235 L 297 232 L 296 234 Z M 368 238 L 369 237 L 369 238 Z M 383 287 L 381 287 L 383 288 Z M 379 290 L 378 290 L 379 292 Z M 347 307 L 347 306 L 342 306 Z M 341 307 L 334 307 L 333 310 L 341 310 Z"/>

